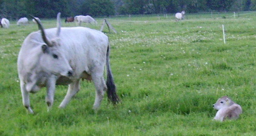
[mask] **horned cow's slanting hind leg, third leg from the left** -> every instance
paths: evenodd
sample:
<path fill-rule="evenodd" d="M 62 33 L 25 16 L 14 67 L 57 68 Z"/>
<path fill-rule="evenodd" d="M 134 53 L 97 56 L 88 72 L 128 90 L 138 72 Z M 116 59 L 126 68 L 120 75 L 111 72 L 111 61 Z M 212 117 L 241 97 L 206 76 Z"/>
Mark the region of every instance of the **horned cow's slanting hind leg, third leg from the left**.
<path fill-rule="evenodd" d="M 76 82 L 69 84 L 67 94 L 65 98 L 62 100 L 61 104 L 59 105 L 59 108 L 64 108 L 67 105 L 67 103 L 71 100 L 71 98 L 79 91 L 79 82 L 80 79 Z"/>

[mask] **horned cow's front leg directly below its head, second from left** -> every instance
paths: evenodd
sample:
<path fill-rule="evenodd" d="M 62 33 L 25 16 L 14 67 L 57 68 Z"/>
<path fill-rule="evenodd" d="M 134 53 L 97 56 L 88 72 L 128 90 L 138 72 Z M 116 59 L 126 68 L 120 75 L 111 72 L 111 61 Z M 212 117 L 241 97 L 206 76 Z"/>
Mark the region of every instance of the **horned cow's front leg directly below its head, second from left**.
<path fill-rule="evenodd" d="M 50 77 L 47 79 L 47 93 L 45 96 L 45 103 L 47 105 L 47 112 L 49 112 L 50 108 L 52 107 L 52 104 L 54 102 L 54 92 L 55 92 L 55 84 L 56 84 L 56 78 Z"/>

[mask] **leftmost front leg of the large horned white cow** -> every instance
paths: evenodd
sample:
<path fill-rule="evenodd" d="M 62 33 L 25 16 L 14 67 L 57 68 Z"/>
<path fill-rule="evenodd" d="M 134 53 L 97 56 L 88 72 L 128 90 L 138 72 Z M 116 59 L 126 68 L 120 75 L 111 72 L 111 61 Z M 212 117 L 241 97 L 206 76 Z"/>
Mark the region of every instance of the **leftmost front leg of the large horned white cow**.
<path fill-rule="evenodd" d="M 26 85 L 24 84 L 23 81 L 20 81 L 20 86 L 21 86 L 22 103 L 26 108 L 27 112 L 29 114 L 33 114 L 34 112 L 33 110 L 31 110 L 30 104 L 29 104 L 29 92 L 26 90 Z"/>

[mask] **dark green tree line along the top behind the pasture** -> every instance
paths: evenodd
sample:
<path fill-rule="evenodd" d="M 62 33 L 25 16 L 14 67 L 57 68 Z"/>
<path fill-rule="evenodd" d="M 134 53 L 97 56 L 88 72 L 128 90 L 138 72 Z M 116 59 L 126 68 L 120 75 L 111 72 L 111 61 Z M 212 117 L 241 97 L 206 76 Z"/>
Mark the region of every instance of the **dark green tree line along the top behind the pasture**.
<path fill-rule="evenodd" d="M 0 17 L 167 14 L 256 10 L 256 0 L 0 0 Z"/>

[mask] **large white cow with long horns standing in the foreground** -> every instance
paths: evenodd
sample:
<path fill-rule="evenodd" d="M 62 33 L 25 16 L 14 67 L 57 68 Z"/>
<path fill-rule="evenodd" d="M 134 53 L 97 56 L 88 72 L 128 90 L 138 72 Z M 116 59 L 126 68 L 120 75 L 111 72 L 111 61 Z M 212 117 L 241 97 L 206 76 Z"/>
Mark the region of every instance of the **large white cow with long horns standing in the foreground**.
<path fill-rule="evenodd" d="M 22 43 L 17 68 L 22 102 L 28 113 L 33 114 L 29 93 L 47 88 L 45 102 L 49 111 L 54 101 L 55 84 L 69 84 L 67 94 L 59 107 L 65 107 L 80 90 L 80 79 L 93 81 L 96 96 L 93 109 L 97 110 L 107 90 L 108 100 L 119 102 L 109 65 L 108 37 L 97 30 L 83 27 L 61 28 L 60 13 L 57 28 L 30 33 Z M 106 65 L 107 82 L 104 82 Z"/>

